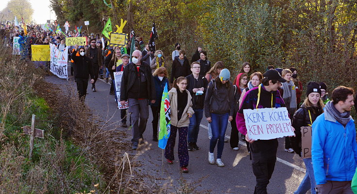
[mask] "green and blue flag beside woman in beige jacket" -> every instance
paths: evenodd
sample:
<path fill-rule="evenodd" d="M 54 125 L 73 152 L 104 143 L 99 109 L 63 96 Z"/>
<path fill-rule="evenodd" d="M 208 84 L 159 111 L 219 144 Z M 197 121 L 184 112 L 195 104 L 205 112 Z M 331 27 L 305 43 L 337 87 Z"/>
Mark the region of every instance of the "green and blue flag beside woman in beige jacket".
<path fill-rule="evenodd" d="M 161 109 L 160 109 L 160 125 L 159 125 L 159 148 L 165 149 L 167 140 L 170 136 L 171 120 L 170 120 L 170 100 L 168 93 L 168 85 L 166 82 L 162 92 Z"/>

